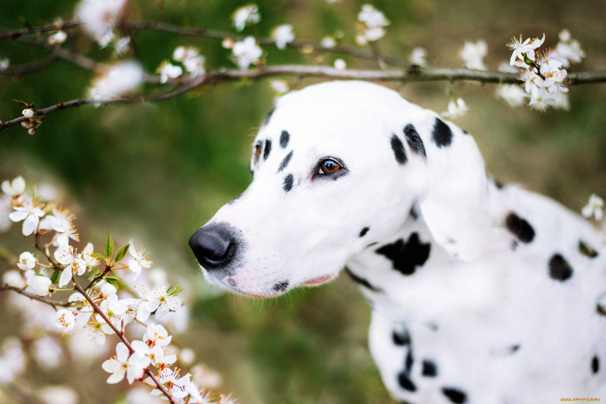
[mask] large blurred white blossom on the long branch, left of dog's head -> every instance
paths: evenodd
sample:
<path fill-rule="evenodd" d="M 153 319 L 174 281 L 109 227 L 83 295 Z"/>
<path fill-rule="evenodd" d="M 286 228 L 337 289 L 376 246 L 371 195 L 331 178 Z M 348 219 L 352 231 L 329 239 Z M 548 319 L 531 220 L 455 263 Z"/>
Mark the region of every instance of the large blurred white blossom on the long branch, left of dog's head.
<path fill-rule="evenodd" d="M 113 1 L 113 0 L 112 0 Z M 143 79 L 141 64 L 127 61 L 110 66 L 101 76 L 93 80 L 89 90 L 90 98 L 107 100 L 134 90 Z M 96 107 L 101 104 L 95 104 Z"/>

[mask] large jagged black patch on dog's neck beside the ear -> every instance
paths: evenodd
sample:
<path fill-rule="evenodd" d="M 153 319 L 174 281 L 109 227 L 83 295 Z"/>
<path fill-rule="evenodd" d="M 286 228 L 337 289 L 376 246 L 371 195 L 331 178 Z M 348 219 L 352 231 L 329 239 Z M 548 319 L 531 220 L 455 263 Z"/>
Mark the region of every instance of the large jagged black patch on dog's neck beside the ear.
<path fill-rule="evenodd" d="M 430 249 L 431 243 L 421 243 L 419 234 L 415 232 L 408 237 L 406 243 L 400 238 L 395 243 L 386 244 L 375 252 L 385 255 L 391 260 L 393 269 L 404 275 L 411 275 L 415 273 L 417 266 L 422 266 L 427 261 Z"/>

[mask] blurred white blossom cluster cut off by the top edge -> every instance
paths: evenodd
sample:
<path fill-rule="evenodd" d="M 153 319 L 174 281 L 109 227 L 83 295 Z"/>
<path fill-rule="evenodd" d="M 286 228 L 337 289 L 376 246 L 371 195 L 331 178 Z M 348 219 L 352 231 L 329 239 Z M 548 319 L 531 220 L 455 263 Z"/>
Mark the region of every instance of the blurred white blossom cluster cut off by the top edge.
<path fill-rule="evenodd" d="M 113 27 L 120 19 L 125 3 L 126 0 L 82 0 L 76 16 L 99 45 L 105 47 L 114 38 Z"/>

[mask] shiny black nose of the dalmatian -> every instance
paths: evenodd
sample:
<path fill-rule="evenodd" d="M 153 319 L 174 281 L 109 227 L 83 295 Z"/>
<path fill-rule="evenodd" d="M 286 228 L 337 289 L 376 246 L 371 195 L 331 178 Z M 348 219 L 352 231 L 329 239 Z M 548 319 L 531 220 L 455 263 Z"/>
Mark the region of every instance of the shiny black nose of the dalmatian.
<path fill-rule="evenodd" d="M 198 262 L 207 269 L 229 263 L 236 248 L 236 238 L 227 223 L 213 223 L 201 227 L 189 241 Z"/>

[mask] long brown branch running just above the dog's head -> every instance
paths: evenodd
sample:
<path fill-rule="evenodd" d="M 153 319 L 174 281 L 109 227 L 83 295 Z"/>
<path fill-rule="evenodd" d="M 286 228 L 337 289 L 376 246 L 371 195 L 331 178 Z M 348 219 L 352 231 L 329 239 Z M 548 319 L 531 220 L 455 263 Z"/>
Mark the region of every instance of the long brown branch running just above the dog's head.
<path fill-rule="evenodd" d="M 214 73 L 207 73 L 201 78 L 184 81 L 178 89 L 159 95 L 139 96 L 133 98 L 115 99 L 74 99 L 59 103 L 44 109 L 35 109 L 36 115 L 45 117 L 50 113 L 87 104 L 131 104 L 145 103 L 148 101 L 164 101 L 174 98 L 182 93 L 196 89 L 204 84 L 215 84 L 217 82 L 235 81 L 239 79 L 260 79 L 273 76 L 295 75 L 304 77 L 321 77 L 330 79 L 366 80 L 366 81 L 399 81 L 399 82 L 421 82 L 421 81 L 479 81 L 493 83 L 515 83 L 522 81 L 514 73 L 485 72 L 483 70 L 470 69 L 422 69 L 416 67 L 408 70 L 338 70 L 327 66 L 265 66 L 255 70 L 224 69 Z M 584 84 L 590 82 L 606 81 L 606 70 L 596 72 L 578 72 L 568 75 L 569 84 Z M 0 130 L 27 121 L 28 118 L 20 116 L 10 121 L 0 122 Z"/>

